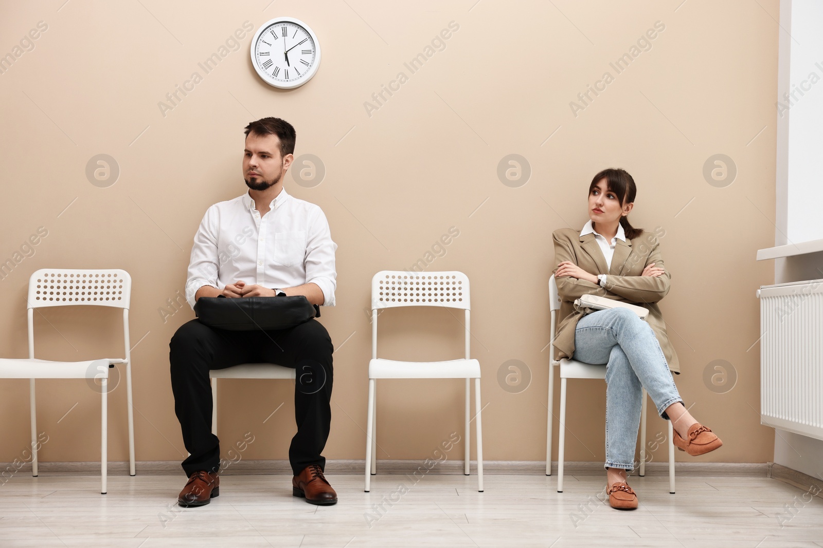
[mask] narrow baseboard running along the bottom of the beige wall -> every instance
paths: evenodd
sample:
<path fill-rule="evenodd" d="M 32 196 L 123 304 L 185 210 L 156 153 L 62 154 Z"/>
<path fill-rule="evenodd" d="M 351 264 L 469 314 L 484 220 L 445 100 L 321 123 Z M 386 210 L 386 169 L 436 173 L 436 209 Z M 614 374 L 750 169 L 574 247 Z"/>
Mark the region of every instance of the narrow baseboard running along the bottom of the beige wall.
<path fill-rule="evenodd" d="M 431 466 L 430 461 L 428 464 Z M 18 463 L 19 466 L 19 463 Z M 48 473 L 66 473 L 66 474 L 99 474 L 100 463 L 38 463 L 38 472 Z M 419 467 L 426 467 L 423 461 L 420 460 L 379 460 L 377 463 L 379 473 L 381 474 L 408 474 L 415 472 Z M 802 487 L 805 484 L 805 489 L 811 485 L 809 481 L 800 478 L 806 477 L 809 480 L 814 478 L 808 477 L 800 472 L 795 472 L 791 468 L 780 467 L 778 464 L 771 466 L 772 473 L 775 472 L 775 467 L 782 468 L 783 471 L 791 471 L 798 476 L 797 484 L 792 484 Z M 15 467 L 12 463 L 0 463 L 0 470 L 9 471 L 15 470 L 16 473 L 31 473 L 30 463 L 25 463 L 22 467 Z M 113 476 L 121 476 L 128 474 L 128 462 L 109 462 L 109 474 Z M 183 468 L 180 467 L 179 461 L 138 461 L 136 470 L 141 475 L 151 476 L 174 476 L 183 474 Z M 477 461 L 471 463 L 472 474 L 477 473 Z M 365 472 L 365 460 L 363 459 L 337 459 L 328 460 L 326 463 L 326 472 L 328 474 L 362 474 Z M 782 474 L 782 477 L 790 477 L 788 472 L 777 471 Z M 447 460 L 442 463 L 436 463 L 429 468 L 429 474 L 442 475 L 460 475 L 463 474 L 462 460 Z M 483 473 L 490 476 L 540 476 L 546 474 L 545 461 L 485 461 L 483 463 Z M 551 473 L 557 473 L 557 463 L 551 465 Z M 591 462 L 567 462 L 564 464 L 564 474 L 567 476 L 598 476 L 603 473 L 602 463 Z M 635 468 L 633 475 L 637 475 L 639 470 Z M 249 475 L 284 475 L 291 476 L 291 466 L 286 460 L 239 460 L 236 463 L 229 463 L 221 474 L 226 476 L 249 476 Z M 691 477 L 691 476 L 737 476 L 737 477 L 769 477 L 770 463 L 676 463 L 675 474 L 677 477 Z M 667 477 L 668 463 L 648 463 L 646 464 L 646 475 L 651 477 Z M 780 479 L 775 476 L 775 479 Z M 802 481 L 801 481 L 802 480 Z M 787 483 L 791 483 L 788 480 Z M 816 485 L 821 485 L 817 481 Z"/>

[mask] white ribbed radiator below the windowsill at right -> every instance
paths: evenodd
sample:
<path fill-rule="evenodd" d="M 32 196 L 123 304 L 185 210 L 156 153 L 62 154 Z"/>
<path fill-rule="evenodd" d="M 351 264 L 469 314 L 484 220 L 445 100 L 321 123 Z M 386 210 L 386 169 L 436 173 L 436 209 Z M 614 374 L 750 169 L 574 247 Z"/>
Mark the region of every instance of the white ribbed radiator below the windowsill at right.
<path fill-rule="evenodd" d="M 823 440 L 823 279 L 763 286 L 760 423 Z"/>

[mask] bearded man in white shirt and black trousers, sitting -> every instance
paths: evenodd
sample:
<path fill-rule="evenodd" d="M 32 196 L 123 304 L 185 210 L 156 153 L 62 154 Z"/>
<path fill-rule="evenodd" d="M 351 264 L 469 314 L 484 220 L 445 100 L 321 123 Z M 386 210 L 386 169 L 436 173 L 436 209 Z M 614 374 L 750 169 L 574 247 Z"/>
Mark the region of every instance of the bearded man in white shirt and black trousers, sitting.
<path fill-rule="evenodd" d="M 283 177 L 294 161 L 295 129 L 266 117 L 245 128 L 243 196 L 212 205 L 194 236 L 186 299 L 303 295 L 334 306 L 337 273 L 328 221 L 319 206 L 289 196 Z M 309 320 L 290 329 L 228 331 L 191 320 L 171 339 L 169 360 L 174 412 L 189 456 L 182 506 L 208 504 L 220 493 L 220 444 L 212 434 L 209 370 L 239 363 L 271 362 L 300 368 L 295 382 L 297 434 L 289 462 L 295 496 L 335 504 L 321 456 L 332 418 L 332 340 Z M 308 371 L 303 373 L 303 371 Z"/>

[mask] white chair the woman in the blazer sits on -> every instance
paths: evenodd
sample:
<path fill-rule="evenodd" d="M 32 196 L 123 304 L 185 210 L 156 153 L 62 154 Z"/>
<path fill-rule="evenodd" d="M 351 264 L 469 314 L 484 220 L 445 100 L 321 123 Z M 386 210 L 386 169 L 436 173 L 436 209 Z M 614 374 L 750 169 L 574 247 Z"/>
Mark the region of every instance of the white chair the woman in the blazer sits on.
<path fill-rule="evenodd" d="M 560 310 L 560 295 L 557 294 L 557 283 L 552 275 L 549 279 L 549 310 L 551 314 L 551 341 L 549 343 L 549 417 L 546 432 L 546 476 L 551 476 L 551 424 L 552 408 L 554 407 L 554 380 L 555 366 L 560 366 L 560 444 L 557 451 L 557 492 L 563 492 L 563 457 L 565 451 L 565 404 L 567 379 L 606 379 L 606 365 L 592 365 L 582 361 L 561 358 L 555 360 L 555 329 L 556 312 Z M 672 443 L 672 421 L 668 424 L 668 457 L 669 457 L 669 493 L 674 495 L 674 444 Z M 640 470 L 639 475 L 646 475 L 646 389 L 643 389 L 643 408 L 640 410 Z"/>

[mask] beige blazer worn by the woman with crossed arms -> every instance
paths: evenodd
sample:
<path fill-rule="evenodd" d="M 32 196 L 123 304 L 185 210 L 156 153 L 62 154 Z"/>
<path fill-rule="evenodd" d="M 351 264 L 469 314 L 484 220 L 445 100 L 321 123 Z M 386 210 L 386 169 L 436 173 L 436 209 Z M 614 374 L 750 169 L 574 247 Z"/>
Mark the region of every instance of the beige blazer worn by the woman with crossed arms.
<path fill-rule="evenodd" d="M 658 337 L 669 370 L 679 375 L 680 361 L 669 341 L 666 322 L 663 321 L 663 314 L 658 306 L 658 301 L 665 297 L 669 290 L 672 276 L 668 271 L 658 277 L 640 275 L 650 263 L 665 268 L 658 237 L 654 233 L 644 232 L 628 242 L 617 240 L 614 256 L 611 257 L 611 268 L 607 268 L 606 257 L 595 241 L 594 234 L 580 236 L 579 231 L 572 228 L 560 228 L 552 236 L 555 241 L 556 265 L 560 265 L 564 260 L 570 260 L 590 274 L 607 274 L 606 288 L 582 279 L 556 279 L 561 302 L 557 316 L 555 359 L 572 357 L 574 354 L 574 328 L 583 316 L 574 310 L 574 299 L 590 293 L 648 308 L 649 315 L 646 320 Z M 556 271 L 557 267 L 553 272 Z"/>

